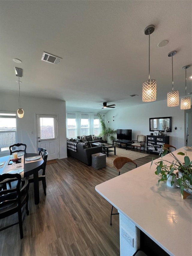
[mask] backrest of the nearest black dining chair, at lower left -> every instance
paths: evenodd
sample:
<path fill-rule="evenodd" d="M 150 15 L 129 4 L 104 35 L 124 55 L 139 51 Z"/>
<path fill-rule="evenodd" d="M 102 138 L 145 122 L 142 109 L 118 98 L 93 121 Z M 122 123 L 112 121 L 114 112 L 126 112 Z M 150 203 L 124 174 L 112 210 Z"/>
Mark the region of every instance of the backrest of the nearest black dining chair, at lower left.
<path fill-rule="evenodd" d="M 16 181 L 16 186 L 14 188 L 7 189 L 7 183 L 12 181 Z M 16 202 L 19 205 L 21 203 L 21 175 L 19 173 L 5 173 L 0 175 L 0 182 L 2 185 L 2 190 L 0 191 L 0 208 Z"/>

